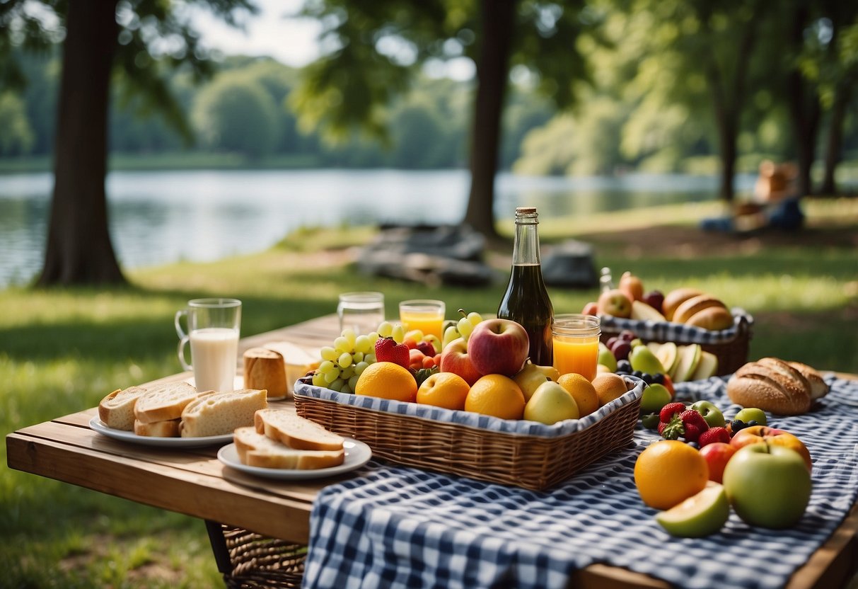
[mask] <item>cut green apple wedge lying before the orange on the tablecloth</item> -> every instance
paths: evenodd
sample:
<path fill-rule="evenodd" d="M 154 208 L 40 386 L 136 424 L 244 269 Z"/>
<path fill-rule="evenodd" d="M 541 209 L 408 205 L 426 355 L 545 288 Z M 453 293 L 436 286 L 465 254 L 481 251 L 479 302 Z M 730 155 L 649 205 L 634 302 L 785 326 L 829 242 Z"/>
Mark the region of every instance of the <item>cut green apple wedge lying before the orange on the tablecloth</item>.
<path fill-rule="evenodd" d="M 724 487 L 709 482 L 697 495 L 656 515 L 656 521 L 672 536 L 704 537 L 721 530 L 730 516 Z"/>

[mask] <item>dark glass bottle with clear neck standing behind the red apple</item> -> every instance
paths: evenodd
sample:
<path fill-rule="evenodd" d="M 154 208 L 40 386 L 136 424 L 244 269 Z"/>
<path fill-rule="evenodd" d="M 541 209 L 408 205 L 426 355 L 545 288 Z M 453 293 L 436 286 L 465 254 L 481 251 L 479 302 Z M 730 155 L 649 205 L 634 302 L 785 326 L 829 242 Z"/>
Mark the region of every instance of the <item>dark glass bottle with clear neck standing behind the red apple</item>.
<path fill-rule="evenodd" d="M 539 224 L 534 207 L 516 209 L 516 236 L 512 247 L 510 283 L 498 306 L 498 317 L 524 326 L 530 337 L 530 361 L 553 364 L 551 324 L 554 307 L 548 297 L 539 255 Z"/>

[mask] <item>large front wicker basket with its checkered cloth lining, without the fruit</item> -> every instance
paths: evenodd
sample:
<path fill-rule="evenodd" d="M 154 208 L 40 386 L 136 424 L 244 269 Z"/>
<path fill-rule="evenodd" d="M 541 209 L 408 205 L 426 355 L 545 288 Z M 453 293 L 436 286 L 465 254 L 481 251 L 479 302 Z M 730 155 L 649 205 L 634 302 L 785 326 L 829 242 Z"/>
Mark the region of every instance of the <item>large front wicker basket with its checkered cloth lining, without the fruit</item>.
<path fill-rule="evenodd" d="M 299 416 L 366 442 L 397 465 L 525 489 L 547 489 L 631 443 L 643 381 L 577 420 L 545 425 L 295 385 Z"/>

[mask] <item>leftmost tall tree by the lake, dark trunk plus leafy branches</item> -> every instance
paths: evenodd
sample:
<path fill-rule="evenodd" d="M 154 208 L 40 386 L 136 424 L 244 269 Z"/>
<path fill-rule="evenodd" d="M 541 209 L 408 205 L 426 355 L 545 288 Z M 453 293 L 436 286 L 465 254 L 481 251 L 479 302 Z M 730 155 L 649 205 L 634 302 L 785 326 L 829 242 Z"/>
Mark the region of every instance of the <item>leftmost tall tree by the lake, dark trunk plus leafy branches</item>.
<path fill-rule="evenodd" d="M 199 3 L 233 25 L 239 9 L 256 12 L 250 0 Z M 124 282 L 110 239 L 105 191 L 111 82 L 123 80 L 119 88 L 126 94 L 120 100 L 145 97 L 143 106 L 159 108 L 190 137 L 160 68 L 188 64 L 196 76 L 206 76 L 212 64 L 187 13 L 168 0 L 43 0 L 40 9 L 33 4 L 0 4 L 0 58 L 10 58 L 16 46 L 44 48 L 64 33 L 55 184 L 39 285 Z M 51 20 L 58 25 L 51 27 Z M 169 50 L 164 39 L 171 41 Z M 12 61 L 6 65 L 0 80 L 20 84 L 20 68 Z"/>

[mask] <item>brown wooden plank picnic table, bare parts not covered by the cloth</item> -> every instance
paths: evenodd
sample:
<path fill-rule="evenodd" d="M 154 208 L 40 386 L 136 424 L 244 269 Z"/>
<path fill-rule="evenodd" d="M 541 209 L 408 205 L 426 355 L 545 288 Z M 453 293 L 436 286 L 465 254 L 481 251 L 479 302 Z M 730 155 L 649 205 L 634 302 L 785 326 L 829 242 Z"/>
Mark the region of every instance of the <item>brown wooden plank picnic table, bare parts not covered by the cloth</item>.
<path fill-rule="evenodd" d="M 337 335 L 336 315 L 326 315 L 245 337 L 239 356 L 244 349 L 283 341 L 317 349 Z M 177 373 L 154 382 L 190 376 Z M 288 408 L 293 404 L 273 401 L 271 406 Z M 221 465 L 216 458 L 217 446 L 175 449 L 112 440 L 89 428 L 95 415 L 96 408 L 89 408 L 7 435 L 9 467 L 204 519 L 209 532 L 212 522 L 221 522 L 300 544 L 309 543 L 309 516 L 319 490 L 351 476 L 294 482 L 257 479 Z M 218 548 L 213 547 L 218 556 Z M 807 564 L 796 571 L 788 586 L 843 586 L 856 570 L 858 504 Z M 598 563 L 578 571 L 574 582 L 583 587 L 668 587 L 644 574 Z"/>

